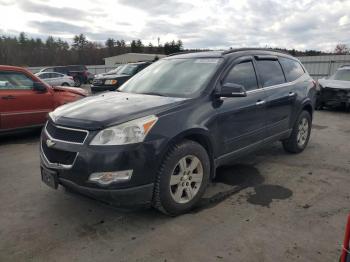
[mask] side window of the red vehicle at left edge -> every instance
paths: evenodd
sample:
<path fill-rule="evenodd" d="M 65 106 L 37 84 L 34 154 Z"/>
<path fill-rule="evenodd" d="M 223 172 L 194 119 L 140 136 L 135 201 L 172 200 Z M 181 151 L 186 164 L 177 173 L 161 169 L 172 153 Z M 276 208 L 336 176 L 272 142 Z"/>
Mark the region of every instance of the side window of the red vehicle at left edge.
<path fill-rule="evenodd" d="M 0 72 L 0 89 L 32 89 L 33 80 L 23 73 Z"/>

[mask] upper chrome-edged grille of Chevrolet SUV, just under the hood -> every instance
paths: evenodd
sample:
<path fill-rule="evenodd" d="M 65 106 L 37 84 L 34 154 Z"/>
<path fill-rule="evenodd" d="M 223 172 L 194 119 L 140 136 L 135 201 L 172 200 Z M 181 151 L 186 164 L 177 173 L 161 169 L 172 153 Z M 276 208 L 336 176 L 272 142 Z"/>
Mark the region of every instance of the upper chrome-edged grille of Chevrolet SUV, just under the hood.
<path fill-rule="evenodd" d="M 84 143 L 88 135 L 88 131 L 55 126 L 51 122 L 47 123 L 46 131 L 53 139 L 78 144 Z"/>

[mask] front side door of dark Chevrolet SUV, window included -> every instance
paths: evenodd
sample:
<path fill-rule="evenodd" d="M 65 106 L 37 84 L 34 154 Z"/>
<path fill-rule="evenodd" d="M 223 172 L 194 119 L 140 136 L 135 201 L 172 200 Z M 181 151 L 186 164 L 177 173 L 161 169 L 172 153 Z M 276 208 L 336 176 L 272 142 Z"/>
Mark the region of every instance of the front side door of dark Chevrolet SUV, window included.
<path fill-rule="evenodd" d="M 221 82 L 244 86 L 246 97 L 223 98 L 218 107 L 218 128 L 223 154 L 244 149 L 266 137 L 264 90 L 259 89 L 251 57 L 235 60 Z"/>

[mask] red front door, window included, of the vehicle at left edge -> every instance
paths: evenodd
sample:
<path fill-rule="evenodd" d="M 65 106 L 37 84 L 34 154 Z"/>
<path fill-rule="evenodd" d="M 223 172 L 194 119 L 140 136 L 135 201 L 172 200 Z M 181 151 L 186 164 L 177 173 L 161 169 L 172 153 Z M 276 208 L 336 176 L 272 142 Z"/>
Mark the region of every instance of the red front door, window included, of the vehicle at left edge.
<path fill-rule="evenodd" d="M 25 73 L 0 72 L 0 128 L 16 129 L 42 125 L 53 109 L 50 90 L 33 90 L 34 80 Z"/>

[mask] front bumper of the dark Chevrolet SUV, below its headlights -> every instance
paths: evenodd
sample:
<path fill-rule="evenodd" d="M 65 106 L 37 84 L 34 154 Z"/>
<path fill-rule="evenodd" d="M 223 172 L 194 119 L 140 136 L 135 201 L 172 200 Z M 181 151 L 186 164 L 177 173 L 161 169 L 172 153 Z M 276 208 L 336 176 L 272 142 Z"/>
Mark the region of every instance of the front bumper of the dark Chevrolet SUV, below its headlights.
<path fill-rule="evenodd" d="M 77 144 L 53 139 L 45 127 L 40 141 L 41 166 L 55 171 L 60 185 L 91 198 L 121 207 L 150 204 L 161 159 L 162 141 L 124 146 L 90 146 L 89 142 L 96 132 L 90 131 L 84 142 Z M 54 142 L 50 147 L 50 156 L 47 156 L 44 144 L 47 140 Z M 54 159 L 56 151 L 61 154 L 57 159 L 68 162 L 57 163 L 59 161 Z M 95 172 L 123 170 L 133 170 L 129 181 L 106 186 L 89 181 L 89 176 Z"/>

